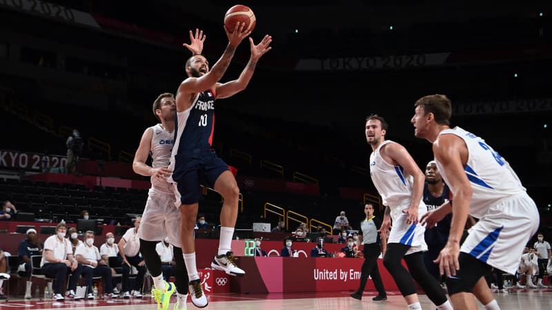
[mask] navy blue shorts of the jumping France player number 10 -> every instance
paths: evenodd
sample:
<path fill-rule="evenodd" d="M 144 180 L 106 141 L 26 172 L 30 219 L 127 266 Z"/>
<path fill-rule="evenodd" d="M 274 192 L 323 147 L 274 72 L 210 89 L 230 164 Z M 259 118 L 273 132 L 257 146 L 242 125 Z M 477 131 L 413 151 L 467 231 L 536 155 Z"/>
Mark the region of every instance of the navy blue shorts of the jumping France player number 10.
<path fill-rule="evenodd" d="M 175 156 L 175 171 L 172 180 L 175 182 L 175 195 L 181 205 L 192 205 L 199 202 L 202 183 L 214 187 L 215 181 L 228 169 L 215 151 L 211 149 L 184 150 Z"/>

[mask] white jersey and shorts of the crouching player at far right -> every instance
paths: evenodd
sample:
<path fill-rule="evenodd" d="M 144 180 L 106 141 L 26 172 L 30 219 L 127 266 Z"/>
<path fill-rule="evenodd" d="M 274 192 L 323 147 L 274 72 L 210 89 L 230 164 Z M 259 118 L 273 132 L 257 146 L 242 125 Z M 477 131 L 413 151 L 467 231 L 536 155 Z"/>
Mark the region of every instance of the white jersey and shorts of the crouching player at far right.
<path fill-rule="evenodd" d="M 460 251 L 514 274 L 525 245 L 538 229 L 537 206 L 509 163 L 482 138 L 460 127 L 442 134 L 454 134 L 466 143 L 468 162 L 464 170 L 473 189 L 469 214 L 479 218 Z M 437 167 L 451 187 L 439 161 Z M 451 190 L 454 192 L 453 187 Z"/>

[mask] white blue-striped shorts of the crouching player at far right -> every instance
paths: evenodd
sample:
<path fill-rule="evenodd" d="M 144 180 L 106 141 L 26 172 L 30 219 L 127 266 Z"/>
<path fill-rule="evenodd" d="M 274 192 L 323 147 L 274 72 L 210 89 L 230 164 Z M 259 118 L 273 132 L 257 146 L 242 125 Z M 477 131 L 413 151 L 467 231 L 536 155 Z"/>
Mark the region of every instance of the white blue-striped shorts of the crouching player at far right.
<path fill-rule="evenodd" d="M 469 229 L 460 251 L 515 274 L 523 249 L 537 232 L 539 218 L 535 202 L 526 193 L 504 199 L 489 207 Z"/>

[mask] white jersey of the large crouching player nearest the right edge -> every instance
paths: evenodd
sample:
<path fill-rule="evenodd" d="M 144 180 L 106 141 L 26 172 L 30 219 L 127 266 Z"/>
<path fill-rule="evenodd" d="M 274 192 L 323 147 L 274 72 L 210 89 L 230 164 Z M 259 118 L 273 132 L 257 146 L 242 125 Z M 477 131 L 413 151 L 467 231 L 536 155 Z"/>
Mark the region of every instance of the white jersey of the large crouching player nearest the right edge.
<path fill-rule="evenodd" d="M 472 216 L 481 218 L 486 209 L 500 200 L 525 192 L 525 187 L 510 164 L 482 138 L 460 127 L 443 130 L 440 132 L 440 135 L 442 134 L 455 134 L 462 138 L 468 147 L 468 162 L 464 171 L 473 189 L 469 211 Z M 443 180 L 451 187 L 446 171 L 437 159 L 435 161 Z M 453 187 L 451 189 L 455 192 Z"/>

